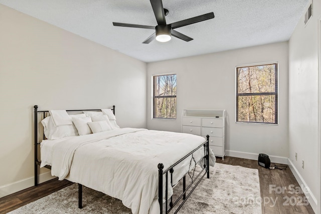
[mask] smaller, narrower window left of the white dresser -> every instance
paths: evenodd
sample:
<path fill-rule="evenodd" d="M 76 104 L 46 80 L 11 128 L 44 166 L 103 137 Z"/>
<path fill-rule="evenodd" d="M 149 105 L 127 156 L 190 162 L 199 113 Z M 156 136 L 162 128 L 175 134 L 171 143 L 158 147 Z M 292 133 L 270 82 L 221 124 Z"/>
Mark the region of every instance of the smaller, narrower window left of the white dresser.
<path fill-rule="evenodd" d="M 176 119 L 176 74 L 153 76 L 153 118 Z"/>

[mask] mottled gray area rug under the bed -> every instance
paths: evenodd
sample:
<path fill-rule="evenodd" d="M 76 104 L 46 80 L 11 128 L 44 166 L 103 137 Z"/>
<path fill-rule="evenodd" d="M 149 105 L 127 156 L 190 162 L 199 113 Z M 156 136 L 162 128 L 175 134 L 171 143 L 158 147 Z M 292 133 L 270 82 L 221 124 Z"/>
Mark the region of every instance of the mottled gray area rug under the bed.
<path fill-rule="evenodd" d="M 78 208 L 78 185 L 72 184 L 9 213 L 131 213 L 120 200 L 87 187 L 83 206 Z M 258 170 L 216 163 L 179 213 L 262 213 Z"/>

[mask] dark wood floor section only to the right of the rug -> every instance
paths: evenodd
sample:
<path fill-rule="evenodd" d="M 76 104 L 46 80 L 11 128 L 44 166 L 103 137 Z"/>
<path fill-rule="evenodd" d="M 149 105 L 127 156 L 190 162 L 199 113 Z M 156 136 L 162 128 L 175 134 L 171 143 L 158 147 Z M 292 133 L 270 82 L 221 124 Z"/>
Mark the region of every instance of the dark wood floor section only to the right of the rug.
<path fill-rule="evenodd" d="M 305 195 L 299 188 L 290 168 L 286 169 L 266 169 L 259 166 L 257 160 L 249 160 L 237 157 L 217 158 L 216 162 L 230 165 L 240 165 L 247 168 L 259 170 L 260 189 L 261 189 L 261 205 L 262 214 L 312 214 L 312 207 L 306 204 Z M 271 163 L 271 166 L 286 165 Z M 284 189 L 284 190 L 283 190 Z"/>

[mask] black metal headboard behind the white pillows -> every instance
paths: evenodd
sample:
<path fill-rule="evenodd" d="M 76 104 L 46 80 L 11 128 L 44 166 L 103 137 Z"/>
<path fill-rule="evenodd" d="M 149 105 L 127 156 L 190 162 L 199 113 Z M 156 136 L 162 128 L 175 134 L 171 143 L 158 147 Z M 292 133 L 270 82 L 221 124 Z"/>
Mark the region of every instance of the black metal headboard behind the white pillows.
<path fill-rule="evenodd" d="M 112 106 L 112 112 L 115 114 L 115 106 Z M 38 142 L 38 114 L 43 113 L 43 118 L 46 117 L 46 113 L 49 112 L 49 110 L 38 110 L 38 106 L 34 106 L 34 123 L 35 123 L 35 186 L 38 185 L 38 165 L 41 164 L 41 161 L 38 160 L 38 146 L 40 142 Z M 83 112 L 83 111 L 101 111 L 101 109 L 78 109 L 78 110 L 66 110 L 67 112 Z M 46 166 L 45 166 L 46 167 Z M 46 168 L 51 168 L 50 166 L 47 166 Z"/>

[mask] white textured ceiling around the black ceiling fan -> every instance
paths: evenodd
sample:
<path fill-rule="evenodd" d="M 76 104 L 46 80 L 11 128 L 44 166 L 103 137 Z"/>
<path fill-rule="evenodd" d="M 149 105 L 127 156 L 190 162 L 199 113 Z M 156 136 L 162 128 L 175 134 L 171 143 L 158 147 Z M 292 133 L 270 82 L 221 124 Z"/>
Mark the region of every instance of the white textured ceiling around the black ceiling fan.
<path fill-rule="evenodd" d="M 194 40 L 142 44 L 156 26 L 148 0 L 0 0 L 0 4 L 144 62 L 287 41 L 308 0 L 163 0 L 167 23 L 214 12 L 215 18 L 175 29 Z"/>

